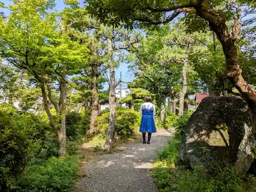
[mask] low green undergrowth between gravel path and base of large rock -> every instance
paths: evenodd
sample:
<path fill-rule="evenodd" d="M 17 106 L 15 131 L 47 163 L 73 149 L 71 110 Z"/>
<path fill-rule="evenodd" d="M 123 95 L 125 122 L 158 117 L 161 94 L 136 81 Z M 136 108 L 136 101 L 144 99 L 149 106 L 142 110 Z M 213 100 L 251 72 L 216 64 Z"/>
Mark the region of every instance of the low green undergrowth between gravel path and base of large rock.
<path fill-rule="evenodd" d="M 159 152 L 154 164 L 153 178 L 160 192 L 252 192 L 256 191 L 256 178 L 252 175 L 236 176 L 232 167 L 216 167 L 215 173 L 206 175 L 202 167 L 189 170 L 179 165 L 178 147 L 185 134 L 185 122 L 191 114 L 177 121 L 175 136 Z M 176 165 L 179 165 L 176 167 Z"/>

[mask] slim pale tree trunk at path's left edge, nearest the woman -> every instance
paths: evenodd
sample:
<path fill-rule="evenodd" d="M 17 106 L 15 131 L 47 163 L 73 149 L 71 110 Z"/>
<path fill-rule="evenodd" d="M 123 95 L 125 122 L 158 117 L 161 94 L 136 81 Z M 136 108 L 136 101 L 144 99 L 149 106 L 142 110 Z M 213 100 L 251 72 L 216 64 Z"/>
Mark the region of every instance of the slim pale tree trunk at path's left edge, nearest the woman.
<path fill-rule="evenodd" d="M 108 39 L 108 48 L 109 53 L 112 53 L 112 40 Z M 105 140 L 105 150 L 108 152 L 113 151 L 113 139 L 114 139 L 114 133 L 115 133 L 115 87 L 116 87 L 116 81 L 115 81 L 115 66 L 112 61 L 112 57 L 110 58 L 110 94 L 109 94 L 109 103 L 110 103 L 110 121 L 109 121 L 109 127 L 108 127 L 108 133 L 106 134 L 106 140 Z"/>

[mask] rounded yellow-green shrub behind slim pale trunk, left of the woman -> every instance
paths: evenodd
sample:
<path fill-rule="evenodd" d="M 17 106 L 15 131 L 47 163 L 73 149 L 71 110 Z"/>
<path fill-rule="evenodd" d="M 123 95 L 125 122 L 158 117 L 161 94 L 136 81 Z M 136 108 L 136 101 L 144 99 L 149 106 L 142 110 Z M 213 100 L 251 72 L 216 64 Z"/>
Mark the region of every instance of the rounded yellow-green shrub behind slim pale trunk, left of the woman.
<path fill-rule="evenodd" d="M 105 135 L 109 125 L 109 111 L 105 110 L 97 117 L 96 124 L 98 128 Z M 140 113 L 134 110 L 127 110 L 125 108 L 116 109 L 116 121 L 115 121 L 115 136 L 120 138 L 131 137 L 136 130 L 139 129 L 141 116 Z"/>

